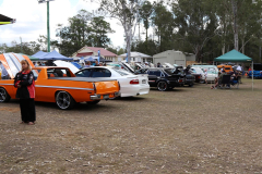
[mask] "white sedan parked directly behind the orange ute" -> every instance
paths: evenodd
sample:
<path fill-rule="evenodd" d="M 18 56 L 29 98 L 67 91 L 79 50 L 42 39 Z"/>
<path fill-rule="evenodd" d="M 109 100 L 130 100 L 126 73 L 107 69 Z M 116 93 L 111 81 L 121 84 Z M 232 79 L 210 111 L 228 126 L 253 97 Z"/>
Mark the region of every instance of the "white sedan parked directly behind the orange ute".
<path fill-rule="evenodd" d="M 85 67 L 75 73 L 76 77 L 108 77 L 120 84 L 121 97 L 146 95 L 150 92 L 147 74 L 134 75 L 111 66 Z"/>

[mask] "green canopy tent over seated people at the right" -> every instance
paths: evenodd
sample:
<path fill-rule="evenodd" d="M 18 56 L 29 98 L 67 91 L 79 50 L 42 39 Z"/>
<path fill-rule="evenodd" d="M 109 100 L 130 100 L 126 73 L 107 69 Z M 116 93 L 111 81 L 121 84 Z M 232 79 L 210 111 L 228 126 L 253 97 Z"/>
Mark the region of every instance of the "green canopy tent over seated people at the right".
<path fill-rule="evenodd" d="M 252 90 L 253 90 L 253 60 L 237 50 L 231 50 L 214 59 L 214 62 L 252 62 Z"/>

